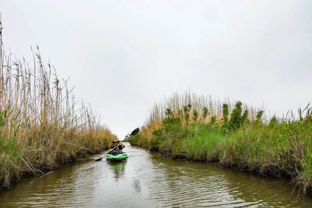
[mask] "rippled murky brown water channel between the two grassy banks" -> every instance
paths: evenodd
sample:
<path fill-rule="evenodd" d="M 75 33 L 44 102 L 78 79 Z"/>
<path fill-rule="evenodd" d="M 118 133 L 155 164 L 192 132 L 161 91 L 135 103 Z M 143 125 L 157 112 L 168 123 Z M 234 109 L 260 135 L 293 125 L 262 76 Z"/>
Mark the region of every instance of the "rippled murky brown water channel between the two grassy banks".
<path fill-rule="evenodd" d="M 84 162 L 0 193 L 0 207 L 312 207 L 288 181 L 174 161 L 125 143 L 128 160 Z M 101 157 L 101 156 L 100 156 Z"/>

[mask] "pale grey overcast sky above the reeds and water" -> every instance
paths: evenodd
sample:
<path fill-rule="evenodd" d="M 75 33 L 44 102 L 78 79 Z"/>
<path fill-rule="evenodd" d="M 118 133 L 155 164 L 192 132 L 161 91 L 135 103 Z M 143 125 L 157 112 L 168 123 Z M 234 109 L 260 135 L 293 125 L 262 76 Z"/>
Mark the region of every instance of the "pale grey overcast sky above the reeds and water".
<path fill-rule="evenodd" d="M 119 139 L 189 86 L 278 114 L 305 107 L 311 11 L 311 0 L 0 1 L 5 48 L 32 63 L 37 44 Z"/>

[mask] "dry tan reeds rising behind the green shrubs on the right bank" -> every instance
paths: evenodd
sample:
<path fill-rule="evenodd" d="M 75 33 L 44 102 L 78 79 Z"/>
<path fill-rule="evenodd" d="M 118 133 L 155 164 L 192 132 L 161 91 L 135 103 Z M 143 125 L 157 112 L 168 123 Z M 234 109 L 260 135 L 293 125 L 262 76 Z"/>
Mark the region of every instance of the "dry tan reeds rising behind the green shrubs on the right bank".
<path fill-rule="evenodd" d="M 185 108 L 191 104 L 191 108 L 185 113 Z M 156 102 L 149 111 L 149 116 L 144 121 L 141 127 L 140 135 L 141 139 L 145 142 L 138 141 L 141 146 L 146 146 L 150 140 L 154 139 L 153 131 L 162 127 L 162 120 L 166 117 L 166 109 L 170 109 L 173 115 L 182 120 L 182 127 L 187 125 L 187 123 L 203 122 L 209 123 L 211 120 L 216 120 L 217 123 L 222 123 L 223 114 L 222 108 L 223 104 L 227 104 L 228 111 L 232 113 L 235 107 L 236 101 L 225 98 L 223 101 L 221 99 L 213 99 L 211 96 L 207 97 L 204 95 L 197 95 L 195 93 L 172 93 L 170 96 L 163 96 L 160 102 Z M 256 107 L 253 104 L 242 103 L 241 106 L 243 111 L 248 112 L 248 118 L 252 121 L 256 118 L 257 112 L 262 108 Z M 204 111 L 207 109 L 207 115 L 203 118 Z M 198 114 L 197 121 L 194 121 L 194 111 Z M 268 120 L 268 115 L 264 114 L 264 121 Z"/>

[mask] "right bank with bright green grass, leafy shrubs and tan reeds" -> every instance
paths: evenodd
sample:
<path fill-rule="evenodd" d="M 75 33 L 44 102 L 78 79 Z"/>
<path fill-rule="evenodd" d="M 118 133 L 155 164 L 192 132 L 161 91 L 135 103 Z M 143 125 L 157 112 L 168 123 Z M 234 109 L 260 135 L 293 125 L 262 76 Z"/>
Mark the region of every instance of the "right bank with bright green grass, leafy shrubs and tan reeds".
<path fill-rule="evenodd" d="M 241 171 L 291 178 L 311 190 L 312 108 L 284 118 L 240 101 L 174 94 L 155 104 L 138 135 L 129 139 L 173 158 L 202 160 Z"/>

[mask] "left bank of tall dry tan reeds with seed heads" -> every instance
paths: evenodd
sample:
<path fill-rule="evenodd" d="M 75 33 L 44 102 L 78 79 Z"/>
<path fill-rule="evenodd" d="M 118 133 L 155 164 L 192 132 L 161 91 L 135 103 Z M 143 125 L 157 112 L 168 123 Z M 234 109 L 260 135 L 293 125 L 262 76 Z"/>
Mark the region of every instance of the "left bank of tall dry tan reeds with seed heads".
<path fill-rule="evenodd" d="M 0 188 L 25 174 L 40 175 L 108 148 L 116 138 L 72 89 L 60 80 L 39 49 L 33 64 L 4 51 L 0 22 Z"/>

